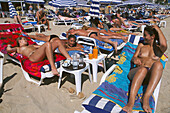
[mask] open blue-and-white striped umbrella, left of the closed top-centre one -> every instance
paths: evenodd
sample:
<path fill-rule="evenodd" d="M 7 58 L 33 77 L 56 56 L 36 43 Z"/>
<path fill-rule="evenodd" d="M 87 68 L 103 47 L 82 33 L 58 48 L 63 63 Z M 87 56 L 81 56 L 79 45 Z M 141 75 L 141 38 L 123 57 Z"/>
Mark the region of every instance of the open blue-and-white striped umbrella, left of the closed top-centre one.
<path fill-rule="evenodd" d="M 53 7 L 76 7 L 77 2 L 75 0 L 52 0 L 48 3 Z"/>

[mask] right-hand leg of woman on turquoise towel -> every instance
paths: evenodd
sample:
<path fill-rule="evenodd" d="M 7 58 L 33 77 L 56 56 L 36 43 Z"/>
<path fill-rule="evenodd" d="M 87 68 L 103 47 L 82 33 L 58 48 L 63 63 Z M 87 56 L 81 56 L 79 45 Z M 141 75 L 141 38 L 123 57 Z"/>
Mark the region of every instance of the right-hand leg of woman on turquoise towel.
<path fill-rule="evenodd" d="M 150 75 L 149 84 L 147 86 L 146 92 L 143 97 L 143 109 L 146 112 L 152 113 L 152 110 L 149 105 L 149 98 L 153 94 L 153 91 L 155 90 L 158 82 L 160 81 L 162 77 L 162 72 L 163 72 L 162 63 L 159 61 L 155 62 L 152 65 L 150 71 L 151 71 L 151 75 Z"/>

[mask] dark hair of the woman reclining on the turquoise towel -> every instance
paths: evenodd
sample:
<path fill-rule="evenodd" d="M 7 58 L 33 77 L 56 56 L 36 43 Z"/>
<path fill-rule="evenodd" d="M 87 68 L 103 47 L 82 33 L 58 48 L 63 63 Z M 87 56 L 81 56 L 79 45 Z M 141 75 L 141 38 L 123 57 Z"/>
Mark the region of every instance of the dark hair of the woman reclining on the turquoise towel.
<path fill-rule="evenodd" d="M 155 28 L 153 28 L 152 26 L 146 26 L 144 30 L 147 31 L 150 36 L 155 35 L 154 41 L 157 41 L 157 43 L 160 44 L 158 31 Z"/>

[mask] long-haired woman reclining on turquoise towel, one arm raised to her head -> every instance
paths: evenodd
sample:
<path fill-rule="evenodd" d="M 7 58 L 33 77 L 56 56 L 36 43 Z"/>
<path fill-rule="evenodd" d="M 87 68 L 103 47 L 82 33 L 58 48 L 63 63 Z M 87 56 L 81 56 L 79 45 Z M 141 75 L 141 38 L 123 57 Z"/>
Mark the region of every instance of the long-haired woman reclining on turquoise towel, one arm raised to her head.
<path fill-rule="evenodd" d="M 167 41 L 158 26 L 147 26 L 144 31 L 145 44 L 140 43 L 132 58 L 132 62 L 137 65 L 129 72 L 129 79 L 132 80 L 130 97 L 123 110 L 127 113 L 132 112 L 135 103 L 135 96 L 142 85 L 148 84 L 143 95 L 143 109 L 145 112 L 152 113 L 149 106 L 149 98 L 153 94 L 162 76 L 163 66 L 160 58 L 167 49 Z M 158 43 L 156 42 L 158 41 Z"/>

